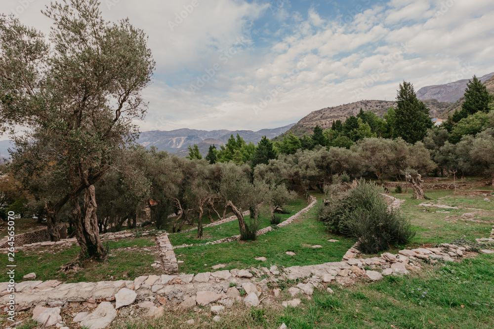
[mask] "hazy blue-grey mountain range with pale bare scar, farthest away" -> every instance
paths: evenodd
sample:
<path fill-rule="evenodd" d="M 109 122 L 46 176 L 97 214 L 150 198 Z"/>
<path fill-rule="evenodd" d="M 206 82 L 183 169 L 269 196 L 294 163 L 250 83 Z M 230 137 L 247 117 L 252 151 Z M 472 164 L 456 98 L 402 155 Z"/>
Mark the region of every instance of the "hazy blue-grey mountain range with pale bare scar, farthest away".
<path fill-rule="evenodd" d="M 160 150 L 166 150 L 170 153 L 179 155 L 187 155 L 187 146 L 197 144 L 201 154 L 207 154 L 209 145 L 219 146 L 228 142 L 231 135 L 239 134 L 247 143 L 252 142 L 257 144 L 263 136 L 272 139 L 280 134 L 283 134 L 290 129 L 294 124 L 289 124 L 285 127 L 274 129 L 261 129 L 259 131 L 251 130 L 195 130 L 195 129 L 177 129 L 172 131 L 146 131 L 140 134 L 137 143 L 150 147 L 156 146 Z"/>

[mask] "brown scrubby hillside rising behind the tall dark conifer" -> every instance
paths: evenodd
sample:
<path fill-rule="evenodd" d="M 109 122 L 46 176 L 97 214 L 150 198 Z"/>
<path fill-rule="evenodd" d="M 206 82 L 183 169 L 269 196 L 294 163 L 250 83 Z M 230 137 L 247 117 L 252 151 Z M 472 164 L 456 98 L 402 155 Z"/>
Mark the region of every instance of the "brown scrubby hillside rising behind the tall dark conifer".
<path fill-rule="evenodd" d="M 431 110 L 436 112 L 442 112 L 448 109 L 451 103 L 441 103 L 436 100 L 426 100 L 425 105 Z M 340 106 L 317 110 L 309 113 L 297 122 L 289 131 L 297 137 L 303 135 L 311 135 L 315 126 L 319 125 L 323 129 L 331 127 L 333 120 L 346 120 L 350 115 L 357 115 L 360 109 L 364 111 L 372 111 L 378 116 L 382 117 L 386 114 L 390 107 L 396 107 L 396 102 L 393 101 L 359 101 L 350 104 L 343 104 Z M 433 113 L 431 113 L 432 115 Z M 281 136 L 273 139 L 274 141 L 281 141 L 283 136 L 288 136 L 288 131 Z"/>

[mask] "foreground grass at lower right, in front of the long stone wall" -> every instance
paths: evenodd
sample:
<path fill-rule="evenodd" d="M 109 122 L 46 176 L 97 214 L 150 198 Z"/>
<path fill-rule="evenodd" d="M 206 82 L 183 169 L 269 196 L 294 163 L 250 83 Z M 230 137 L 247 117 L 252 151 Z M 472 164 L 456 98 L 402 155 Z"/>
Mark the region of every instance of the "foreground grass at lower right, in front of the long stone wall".
<path fill-rule="evenodd" d="M 493 267 L 494 257 L 478 256 L 411 278 L 331 286 L 334 294 L 316 292 L 312 301 L 279 315 L 272 328 L 493 328 Z"/>

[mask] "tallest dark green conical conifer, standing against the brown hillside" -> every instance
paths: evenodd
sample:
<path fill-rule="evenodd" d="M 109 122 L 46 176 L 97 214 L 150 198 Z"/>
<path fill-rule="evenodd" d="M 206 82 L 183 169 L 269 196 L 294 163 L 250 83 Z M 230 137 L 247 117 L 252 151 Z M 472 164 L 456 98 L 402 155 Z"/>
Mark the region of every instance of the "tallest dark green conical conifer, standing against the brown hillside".
<path fill-rule="evenodd" d="M 433 123 L 429 109 L 417 99 L 412 83 L 403 81 L 403 85 L 400 84 L 396 101 L 398 106 L 394 136 L 401 137 L 411 144 L 421 141 Z"/>

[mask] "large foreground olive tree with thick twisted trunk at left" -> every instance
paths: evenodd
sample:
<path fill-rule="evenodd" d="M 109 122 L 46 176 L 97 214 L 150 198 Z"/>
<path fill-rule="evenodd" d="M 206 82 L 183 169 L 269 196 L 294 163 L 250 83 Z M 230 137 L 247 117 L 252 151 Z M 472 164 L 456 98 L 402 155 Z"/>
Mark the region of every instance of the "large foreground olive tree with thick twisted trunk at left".
<path fill-rule="evenodd" d="M 98 234 L 96 183 L 114 153 L 138 133 L 133 120 L 147 109 L 141 91 L 155 63 L 142 30 L 128 19 L 106 22 L 97 0 L 52 2 L 50 44 L 13 17 L 0 18 L 0 124 L 26 127 L 14 142 L 42 150 L 69 188 L 46 204 L 52 240 L 58 212 L 70 201 L 80 256 L 106 258 Z M 80 195 L 83 193 L 83 202 Z"/>

